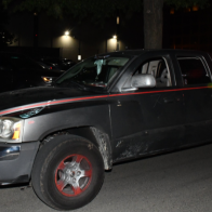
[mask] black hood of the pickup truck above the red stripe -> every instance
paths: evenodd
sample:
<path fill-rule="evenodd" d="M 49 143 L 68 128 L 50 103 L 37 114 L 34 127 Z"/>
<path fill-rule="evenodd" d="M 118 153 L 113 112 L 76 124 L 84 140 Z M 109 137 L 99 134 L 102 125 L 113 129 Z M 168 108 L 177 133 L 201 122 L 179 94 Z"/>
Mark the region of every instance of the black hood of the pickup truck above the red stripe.
<path fill-rule="evenodd" d="M 19 110 L 23 110 L 51 104 L 63 104 L 74 101 L 95 98 L 95 96 L 104 97 L 106 94 L 97 94 L 91 91 L 83 91 L 75 88 L 54 87 L 38 87 L 5 92 L 0 94 L 0 116 L 8 114 L 2 111 L 11 108 L 19 107 Z M 25 106 L 29 107 L 27 108 Z"/>

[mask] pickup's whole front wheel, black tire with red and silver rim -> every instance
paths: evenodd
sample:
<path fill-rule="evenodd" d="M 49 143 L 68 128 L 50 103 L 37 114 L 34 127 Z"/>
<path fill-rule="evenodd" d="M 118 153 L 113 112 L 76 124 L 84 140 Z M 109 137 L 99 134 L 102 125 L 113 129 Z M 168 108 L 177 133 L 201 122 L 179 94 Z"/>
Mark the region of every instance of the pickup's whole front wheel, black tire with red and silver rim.
<path fill-rule="evenodd" d="M 57 210 L 74 210 L 89 203 L 103 181 L 104 163 L 98 149 L 74 135 L 55 136 L 44 144 L 31 173 L 38 197 Z"/>

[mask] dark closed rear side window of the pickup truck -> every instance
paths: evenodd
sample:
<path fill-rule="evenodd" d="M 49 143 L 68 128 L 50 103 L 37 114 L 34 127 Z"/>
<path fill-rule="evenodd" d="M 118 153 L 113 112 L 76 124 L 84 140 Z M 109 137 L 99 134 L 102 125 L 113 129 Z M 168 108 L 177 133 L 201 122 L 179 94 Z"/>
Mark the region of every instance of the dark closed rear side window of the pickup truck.
<path fill-rule="evenodd" d="M 210 83 L 211 79 L 199 57 L 177 57 L 184 85 Z"/>

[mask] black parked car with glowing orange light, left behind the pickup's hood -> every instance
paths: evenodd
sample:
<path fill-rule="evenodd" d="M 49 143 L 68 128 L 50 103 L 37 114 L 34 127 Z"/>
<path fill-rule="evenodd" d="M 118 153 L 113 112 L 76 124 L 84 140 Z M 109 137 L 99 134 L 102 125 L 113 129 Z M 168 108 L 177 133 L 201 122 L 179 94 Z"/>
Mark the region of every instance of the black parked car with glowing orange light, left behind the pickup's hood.
<path fill-rule="evenodd" d="M 45 85 L 63 72 L 43 68 L 23 54 L 0 52 L 0 92 Z"/>

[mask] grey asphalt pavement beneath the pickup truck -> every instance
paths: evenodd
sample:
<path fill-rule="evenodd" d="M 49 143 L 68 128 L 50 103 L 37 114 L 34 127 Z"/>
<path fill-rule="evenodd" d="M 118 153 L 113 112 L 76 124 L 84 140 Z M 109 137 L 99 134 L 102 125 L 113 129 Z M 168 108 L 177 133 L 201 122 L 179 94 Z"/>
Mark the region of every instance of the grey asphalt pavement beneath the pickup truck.
<path fill-rule="evenodd" d="M 54 212 L 32 188 L 1 187 L 0 212 Z M 72 212 L 212 212 L 212 145 L 115 165 Z"/>

